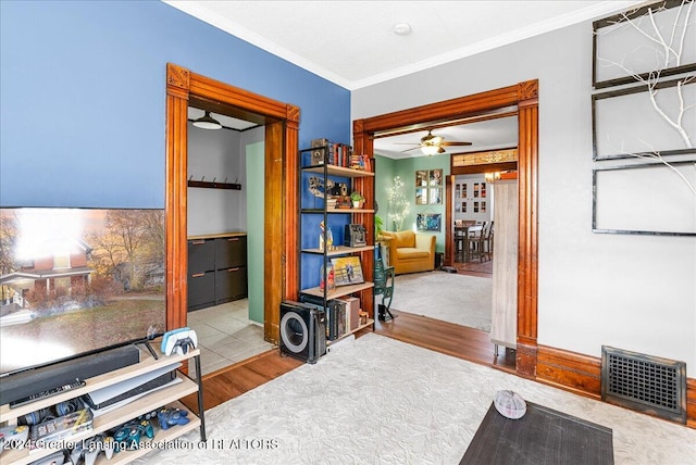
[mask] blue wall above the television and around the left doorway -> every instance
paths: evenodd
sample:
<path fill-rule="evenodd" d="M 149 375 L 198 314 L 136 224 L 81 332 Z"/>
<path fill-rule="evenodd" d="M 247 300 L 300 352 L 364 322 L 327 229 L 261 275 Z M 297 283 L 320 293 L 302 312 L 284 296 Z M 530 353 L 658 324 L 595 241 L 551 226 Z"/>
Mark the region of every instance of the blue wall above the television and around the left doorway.
<path fill-rule="evenodd" d="M 0 1 L 0 204 L 164 206 L 166 63 L 350 140 L 350 92 L 159 1 Z"/>

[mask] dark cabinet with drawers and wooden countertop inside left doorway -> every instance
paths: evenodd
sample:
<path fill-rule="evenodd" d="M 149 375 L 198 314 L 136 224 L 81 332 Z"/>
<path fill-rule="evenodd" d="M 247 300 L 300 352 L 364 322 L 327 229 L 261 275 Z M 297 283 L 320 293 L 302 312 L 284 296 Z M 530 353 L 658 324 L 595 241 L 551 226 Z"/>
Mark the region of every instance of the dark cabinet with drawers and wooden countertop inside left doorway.
<path fill-rule="evenodd" d="M 247 237 L 235 234 L 188 241 L 188 311 L 247 297 Z"/>

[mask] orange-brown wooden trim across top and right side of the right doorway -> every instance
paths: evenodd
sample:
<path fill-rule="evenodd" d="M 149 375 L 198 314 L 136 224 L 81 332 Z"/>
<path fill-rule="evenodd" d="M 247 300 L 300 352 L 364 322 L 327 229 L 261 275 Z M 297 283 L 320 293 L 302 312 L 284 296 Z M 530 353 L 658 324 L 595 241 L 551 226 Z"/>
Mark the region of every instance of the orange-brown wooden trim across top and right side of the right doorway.
<path fill-rule="evenodd" d="M 519 125 L 518 375 L 535 378 L 537 360 L 538 80 L 353 122 L 357 150 L 373 153 L 375 133 L 517 109 Z M 509 112 L 506 115 L 510 115 Z"/>

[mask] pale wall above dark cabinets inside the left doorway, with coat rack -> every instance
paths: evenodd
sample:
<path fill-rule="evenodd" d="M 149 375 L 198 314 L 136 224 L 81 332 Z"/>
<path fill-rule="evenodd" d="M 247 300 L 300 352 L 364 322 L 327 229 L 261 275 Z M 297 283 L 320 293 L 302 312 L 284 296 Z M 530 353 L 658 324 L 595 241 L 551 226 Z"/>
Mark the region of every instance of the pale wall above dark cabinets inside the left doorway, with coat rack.
<path fill-rule="evenodd" d="M 241 184 L 241 190 L 188 188 L 188 236 L 246 231 L 247 185 L 240 133 L 188 123 L 188 175 L 194 180 Z"/>

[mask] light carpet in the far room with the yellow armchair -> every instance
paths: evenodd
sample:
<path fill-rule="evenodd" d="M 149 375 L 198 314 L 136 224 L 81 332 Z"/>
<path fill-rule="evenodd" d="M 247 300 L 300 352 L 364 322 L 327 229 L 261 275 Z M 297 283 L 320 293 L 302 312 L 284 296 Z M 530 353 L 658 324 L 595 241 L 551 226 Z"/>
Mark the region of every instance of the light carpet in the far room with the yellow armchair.
<path fill-rule="evenodd" d="M 445 272 L 395 279 L 391 309 L 490 331 L 493 279 Z"/>

